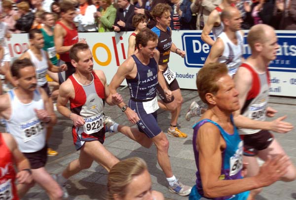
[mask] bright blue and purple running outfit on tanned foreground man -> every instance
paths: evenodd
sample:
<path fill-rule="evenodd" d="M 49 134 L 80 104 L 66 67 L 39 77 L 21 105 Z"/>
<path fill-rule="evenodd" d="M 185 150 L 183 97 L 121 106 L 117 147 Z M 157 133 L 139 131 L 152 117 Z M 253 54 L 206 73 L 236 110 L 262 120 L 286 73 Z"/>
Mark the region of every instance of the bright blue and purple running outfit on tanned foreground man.
<path fill-rule="evenodd" d="M 233 124 L 232 116 L 231 122 Z M 242 155 L 243 155 L 243 141 L 240 139 L 238 131 L 233 124 L 234 133 L 229 134 L 223 130 L 223 128 L 216 123 L 215 121 L 204 119 L 197 122 L 193 126 L 193 152 L 195 157 L 195 163 L 197 167 L 196 172 L 196 185 L 192 187 L 191 193 L 189 195 L 189 200 L 247 200 L 249 196 L 249 191 L 242 192 L 236 195 L 226 196 L 226 197 L 219 197 L 213 199 L 207 199 L 204 197 L 203 188 L 201 177 L 199 173 L 199 154 L 198 150 L 196 149 L 196 137 L 198 133 L 198 129 L 205 123 L 213 123 L 216 125 L 223 139 L 226 142 L 226 149 L 221 153 L 222 156 L 222 167 L 221 167 L 221 175 L 220 179 L 222 180 L 233 180 L 233 179 L 241 179 L 243 178 L 241 175 L 242 171 Z M 209 132 L 209 134 L 211 134 Z"/>

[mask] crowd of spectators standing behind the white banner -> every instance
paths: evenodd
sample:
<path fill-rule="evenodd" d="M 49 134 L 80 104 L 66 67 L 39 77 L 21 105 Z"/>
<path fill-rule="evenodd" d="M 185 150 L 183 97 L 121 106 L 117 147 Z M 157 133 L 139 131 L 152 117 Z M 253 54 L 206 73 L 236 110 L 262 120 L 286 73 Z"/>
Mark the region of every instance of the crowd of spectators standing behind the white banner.
<path fill-rule="evenodd" d="M 32 28 L 42 28 L 40 16 L 52 12 L 60 19 L 62 0 L 3 0 L 1 20 L 8 25 L 8 32 L 28 33 Z M 64 0 L 66 1 L 66 0 Z M 212 10 L 222 0 L 67 0 L 74 3 L 74 22 L 78 32 L 134 31 L 135 14 L 147 17 L 147 26 L 155 21 L 150 14 L 157 3 L 171 6 L 172 30 L 202 30 Z M 296 30 L 295 0 L 237 0 L 236 7 L 243 19 L 242 29 L 256 24 L 268 24 L 276 30 Z"/>

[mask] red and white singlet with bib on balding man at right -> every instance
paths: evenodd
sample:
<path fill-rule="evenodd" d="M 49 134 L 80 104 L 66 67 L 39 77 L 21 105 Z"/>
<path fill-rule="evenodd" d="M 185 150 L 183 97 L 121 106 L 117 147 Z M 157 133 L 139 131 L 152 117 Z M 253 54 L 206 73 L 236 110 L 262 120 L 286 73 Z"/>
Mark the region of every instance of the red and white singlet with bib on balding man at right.
<path fill-rule="evenodd" d="M 259 74 L 253 66 L 243 63 L 240 67 L 248 69 L 252 74 L 252 87 L 249 90 L 241 115 L 252 120 L 264 121 L 266 119 L 266 108 L 268 103 L 268 72 Z M 248 135 L 258 133 L 260 129 L 239 129 L 239 134 Z"/>

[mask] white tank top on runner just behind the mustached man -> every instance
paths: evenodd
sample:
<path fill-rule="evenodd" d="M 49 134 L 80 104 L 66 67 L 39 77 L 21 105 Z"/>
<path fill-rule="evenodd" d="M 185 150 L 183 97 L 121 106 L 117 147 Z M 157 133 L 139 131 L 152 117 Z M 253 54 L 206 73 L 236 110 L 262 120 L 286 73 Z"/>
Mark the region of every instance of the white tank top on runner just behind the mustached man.
<path fill-rule="evenodd" d="M 30 54 L 31 61 L 35 65 L 37 85 L 39 87 L 44 85 L 47 82 L 45 75 L 46 75 L 47 69 L 48 69 L 47 56 L 46 56 L 47 53 L 43 49 L 40 49 L 40 51 L 41 51 L 41 55 L 42 55 L 41 61 L 37 59 L 37 57 L 31 51 L 31 49 L 28 49 L 28 53 Z"/>

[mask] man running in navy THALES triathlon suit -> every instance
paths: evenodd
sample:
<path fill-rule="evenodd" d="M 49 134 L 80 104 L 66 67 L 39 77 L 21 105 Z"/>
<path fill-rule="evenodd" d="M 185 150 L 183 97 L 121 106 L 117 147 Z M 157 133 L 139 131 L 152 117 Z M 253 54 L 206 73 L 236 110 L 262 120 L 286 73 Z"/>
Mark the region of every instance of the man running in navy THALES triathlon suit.
<path fill-rule="evenodd" d="M 156 85 L 159 82 L 168 100 L 172 97 L 172 91 L 167 88 L 163 74 L 158 70 L 159 53 L 156 46 L 157 35 L 151 30 L 144 29 L 137 34 L 136 47 L 139 51 L 120 65 L 110 83 L 110 92 L 116 93 L 116 88 L 126 79 L 131 99 L 128 105 L 122 102 L 118 106 L 128 120 L 137 123 L 139 131 L 155 144 L 157 160 L 169 183 L 169 191 L 187 196 L 191 187 L 185 186 L 174 176 L 168 155 L 169 142 L 157 124 L 156 111 L 159 107 Z"/>

